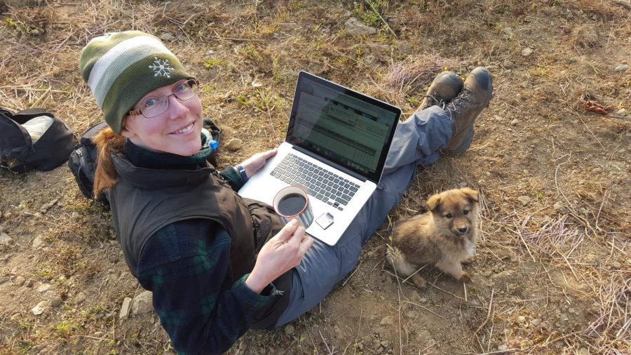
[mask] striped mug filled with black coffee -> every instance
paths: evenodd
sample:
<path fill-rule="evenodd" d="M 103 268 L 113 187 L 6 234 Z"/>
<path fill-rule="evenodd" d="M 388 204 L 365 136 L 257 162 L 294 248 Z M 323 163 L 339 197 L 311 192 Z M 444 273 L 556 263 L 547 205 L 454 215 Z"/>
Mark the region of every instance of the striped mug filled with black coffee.
<path fill-rule="evenodd" d="M 309 196 L 300 187 L 287 186 L 280 189 L 274 197 L 273 208 L 285 224 L 290 220 L 297 220 L 303 227 L 307 228 L 313 222 Z"/>

